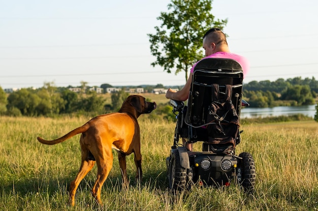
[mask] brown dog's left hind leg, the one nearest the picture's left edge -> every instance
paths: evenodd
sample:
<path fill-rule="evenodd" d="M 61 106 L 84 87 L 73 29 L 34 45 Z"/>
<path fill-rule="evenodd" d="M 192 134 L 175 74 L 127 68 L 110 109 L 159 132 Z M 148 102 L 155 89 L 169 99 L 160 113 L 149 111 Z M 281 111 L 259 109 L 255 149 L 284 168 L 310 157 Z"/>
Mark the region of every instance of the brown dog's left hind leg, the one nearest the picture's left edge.
<path fill-rule="evenodd" d="M 87 175 L 87 173 L 92 169 L 96 161 L 85 160 L 82 158 L 82 164 L 76 178 L 70 184 L 70 204 L 74 206 L 75 204 L 75 193 L 78 185 L 82 179 Z"/>

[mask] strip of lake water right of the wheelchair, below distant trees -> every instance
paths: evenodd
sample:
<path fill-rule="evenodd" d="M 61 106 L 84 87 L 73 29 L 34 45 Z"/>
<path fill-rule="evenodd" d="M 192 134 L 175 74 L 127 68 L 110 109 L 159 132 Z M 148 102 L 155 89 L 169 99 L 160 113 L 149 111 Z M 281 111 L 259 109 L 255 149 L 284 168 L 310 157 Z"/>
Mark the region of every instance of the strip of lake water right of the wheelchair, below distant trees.
<path fill-rule="evenodd" d="M 268 117 L 281 115 L 294 115 L 302 113 L 304 115 L 314 117 L 316 110 L 314 105 L 309 106 L 277 106 L 273 108 L 249 108 L 243 107 L 241 110 L 241 118 Z"/>

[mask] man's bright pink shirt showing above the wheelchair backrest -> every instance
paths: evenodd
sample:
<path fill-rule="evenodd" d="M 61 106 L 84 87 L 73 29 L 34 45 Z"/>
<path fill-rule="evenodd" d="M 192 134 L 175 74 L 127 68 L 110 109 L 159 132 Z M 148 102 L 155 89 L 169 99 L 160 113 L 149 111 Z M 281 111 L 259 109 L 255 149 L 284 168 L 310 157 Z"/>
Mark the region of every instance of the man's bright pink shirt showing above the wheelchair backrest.
<path fill-rule="evenodd" d="M 234 59 L 235 61 L 237 61 L 241 65 L 241 67 L 243 69 L 243 76 L 244 77 L 245 77 L 245 75 L 247 74 L 247 72 L 249 70 L 249 62 L 248 62 L 248 60 L 245 57 L 240 56 L 238 54 L 234 54 L 234 53 L 230 53 L 230 52 L 216 52 L 216 53 L 214 53 L 214 54 L 212 54 L 210 56 L 204 57 L 203 59 L 207 59 L 207 58 Z M 198 62 L 200 62 L 200 61 L 198 61 Z M 193 70 L 194 70 L 195 66 L 197 65 L 197 63 L 192 66 L 190 72 L 193 72 Z"/>

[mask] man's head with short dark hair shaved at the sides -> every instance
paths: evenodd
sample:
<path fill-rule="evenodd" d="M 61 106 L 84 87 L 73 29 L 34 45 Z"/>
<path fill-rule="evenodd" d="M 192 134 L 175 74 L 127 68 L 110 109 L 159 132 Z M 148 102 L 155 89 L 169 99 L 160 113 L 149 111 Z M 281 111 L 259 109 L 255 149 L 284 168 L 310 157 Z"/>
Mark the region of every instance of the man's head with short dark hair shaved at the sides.
<path fill-rule="evenodd" d="M 219 28 L 209 29 L 203 36 L 203 48 L 205 49 L 205 56 L 219 51 L 228 52 L 226 35 Z"/>

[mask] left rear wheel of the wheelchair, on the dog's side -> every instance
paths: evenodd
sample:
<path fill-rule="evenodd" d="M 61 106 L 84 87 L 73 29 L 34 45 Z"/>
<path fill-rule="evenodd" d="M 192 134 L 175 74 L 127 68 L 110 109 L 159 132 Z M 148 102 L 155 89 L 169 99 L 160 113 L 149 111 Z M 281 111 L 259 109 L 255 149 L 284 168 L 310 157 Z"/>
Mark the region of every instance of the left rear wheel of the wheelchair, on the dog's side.
<path fill-rule="evenodd" d="M 186 185 L 186 168 L 180 165 L 180 155 L 175 150 L 171 155 L 169 168 L 169 188 L 171 190 L 181 191 Z"/>

